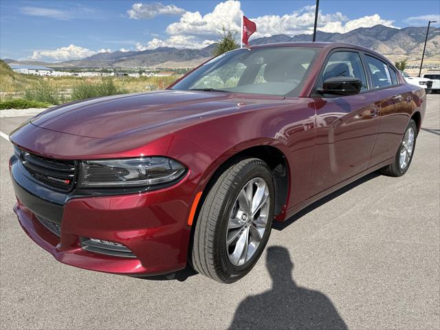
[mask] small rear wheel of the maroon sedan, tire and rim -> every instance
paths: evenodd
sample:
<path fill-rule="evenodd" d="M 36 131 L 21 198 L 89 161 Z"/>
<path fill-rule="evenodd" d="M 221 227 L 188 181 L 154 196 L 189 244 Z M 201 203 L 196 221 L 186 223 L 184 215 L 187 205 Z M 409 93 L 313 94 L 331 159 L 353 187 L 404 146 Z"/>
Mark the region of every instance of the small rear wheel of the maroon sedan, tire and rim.
<path fill-rule="evenodd" d="M 410 146 L 406 146 L 408 144 L 408 140 L 406 140 L 407 136 L 410 137 L 412 132 L 412 144 Z M 408 122 L 408 126 L 406 126 L 406 130 L 404 136 L 402 137 L 399 148 L 397 149 L 397 153 L 393 162 L 388 166 L 385 166 L 380 169 L 380 173 L 384 175 L 388 175 L 390 177 L 401 177 L 406 173 L 408 168 L 410 167 L 412 156 L 414 156 L 415 151 L 415 142 L 417 140 L 417 125 L 414 120 L 410 120 Z M 401 153 L 406 153 L 406 162 L 404 162 L 404 166 L 401 163 Z M 403 156 L 402 156 L 403 157 Z"/>

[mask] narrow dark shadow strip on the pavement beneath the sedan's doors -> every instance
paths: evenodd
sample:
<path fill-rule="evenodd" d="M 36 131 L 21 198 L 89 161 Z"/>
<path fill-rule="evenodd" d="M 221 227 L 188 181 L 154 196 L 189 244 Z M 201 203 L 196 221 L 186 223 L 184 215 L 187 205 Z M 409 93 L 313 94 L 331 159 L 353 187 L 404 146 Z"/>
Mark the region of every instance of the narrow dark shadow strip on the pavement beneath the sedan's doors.
<path fill-rule="evenodd" d="M 324 205 L 325 203 L 328 203 L 332 199 L 335 199 L 336 197 L 339 197 L 340 195 L 343 195 L 345 192 L 359 186 L 360 184 L 364 184 L 366 181 L 369 181 L 371 179 L 374 179 L 375 177 L 379 177 L 380 173 L 377 171 L 373 173 L 369 173 L 365 175 L 364 177 L 361 177 L 360 179 L 357 179 L 356 181 L 353 181 L 351 184 L 348 184 L 347 186 L 344 186 L 335 192 L 331 192 L 331 194 L 322 197 L 318 201 L 315 201 L 314 203 L 311 203 L 307 208 L 303 208 L 303 210 L 300 210 L 298 213 L 294 214 L 292 217 L 287 219 L 286 221 L 280 222 L 280 221 L 274 221 L 272 223 L 272 229 L 274 230 L 283 230 L 288 225 L 291 225 L 296 220 L 302 218 L 305 216 L 305 214 L 315 210 L 316 208 L 319 208 L 320 206 Z"/>

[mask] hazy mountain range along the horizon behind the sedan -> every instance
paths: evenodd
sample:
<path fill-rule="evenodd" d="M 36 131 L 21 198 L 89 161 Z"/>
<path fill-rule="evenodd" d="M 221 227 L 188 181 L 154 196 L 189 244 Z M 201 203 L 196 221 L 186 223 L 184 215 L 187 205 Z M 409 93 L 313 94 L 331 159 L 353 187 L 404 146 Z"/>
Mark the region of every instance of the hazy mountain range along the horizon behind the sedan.
<path fill-rule="evenodd" d="M 391 61 L 400 61 L 404 58 L 408 63 L 419 61 L 423 52 L 426 28 L 389 28 L 384 25 L 375 25 L 371 28 L 358 28 L 347 33 L 320 32 L 316 34 L 316 41 L 351 43 L 362 45 L 380 52 Z M 311 41 L 311 34 L 287 36 L 277 34 L 250 41 L 251 45 L 267 43 L 286 43 L 296 41 Z M 181 68 L 195 67 L 212 56 L 216 44 L 209 45 L 201 50 L 176 49 L 173 47 L 159 47 L 154 50 L 100 53 L 80 60 L 60 63 L 44 63 L 35 61 L 14 61 L 5 58 L 9 64 L 45 65 L 47 67 L 148 67 L 148 68 Z M 425 63 L 440 64 L 440 28 L 430 28 L 426 44 Z"/>

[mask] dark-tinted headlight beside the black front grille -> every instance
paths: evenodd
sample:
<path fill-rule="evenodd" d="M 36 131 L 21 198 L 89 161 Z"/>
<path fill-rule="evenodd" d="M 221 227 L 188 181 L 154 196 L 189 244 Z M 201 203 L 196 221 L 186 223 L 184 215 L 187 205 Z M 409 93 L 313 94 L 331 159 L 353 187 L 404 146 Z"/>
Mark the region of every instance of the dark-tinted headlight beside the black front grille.
<path fill-rule="evenodd" d="M 83 188 L 146 187 L 168 184 L 186 168 L 166 157 L 86 160 L 80 163 L 78 186 Z"/>

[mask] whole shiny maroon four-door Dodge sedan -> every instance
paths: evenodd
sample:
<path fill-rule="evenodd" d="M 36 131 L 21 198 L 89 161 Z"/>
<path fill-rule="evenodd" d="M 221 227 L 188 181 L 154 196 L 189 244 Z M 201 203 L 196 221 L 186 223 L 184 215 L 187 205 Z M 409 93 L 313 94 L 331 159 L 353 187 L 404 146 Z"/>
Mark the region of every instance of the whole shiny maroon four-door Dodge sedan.
<path fill-rule="evenodd" d="M 228 52 L 164 91 L 71 102 L 10 135 L 25 232 L 62 263 L 132 276 L 189 262 L 232 283 L 284 221 L 410 166 L 422 88 L 362 47 Z"/>

